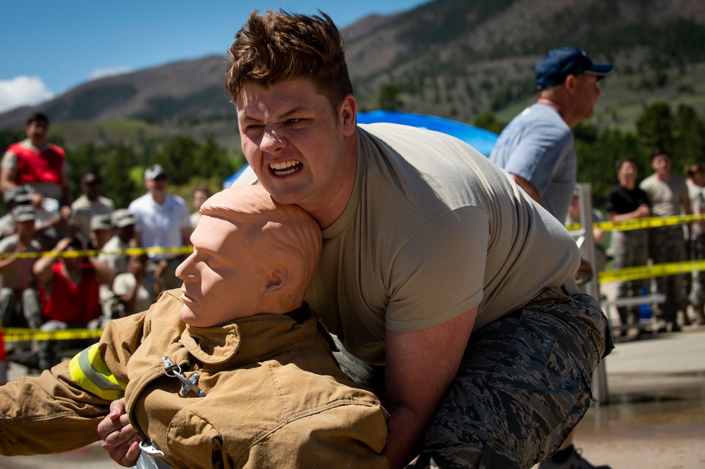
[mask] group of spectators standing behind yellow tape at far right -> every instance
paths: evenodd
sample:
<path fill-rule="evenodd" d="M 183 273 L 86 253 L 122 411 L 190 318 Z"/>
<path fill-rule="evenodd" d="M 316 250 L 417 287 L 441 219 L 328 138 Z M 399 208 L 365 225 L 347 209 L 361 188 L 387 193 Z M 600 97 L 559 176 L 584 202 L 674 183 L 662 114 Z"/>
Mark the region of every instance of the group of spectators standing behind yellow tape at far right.
<path fill-rule="evenodd" d="M 671 156 L 665 149 L 651 154 L 653 173 L 637 185 L 637 163 L 632 158 L 617 162 L 618 185 L 608 192 L 608 220 L 621 222 L 635 218 L 702 215 L 705 213 L 705 166 L 686 165 L 687 180 L 672 171 Z M 611 237 L 612 268 L 622 269 L 654 264 L 695 261 L 705 257 L 705 222 L 651 227 L 639 230 L 615 230 Z M 645 292 L 663 294 L 656 304 L 654 319 L 657 332 L 680 332 L 681 325 L 694 321 L 705 324 L 705 275 L 678 274 L 653 279 L 628 280 L 618 285 L 618 297 L 637 297 Z M 689 315 L 692 306 L 696 318 Z M 622 329 L 640 322 L 640 307 L 619 306 Z"/>

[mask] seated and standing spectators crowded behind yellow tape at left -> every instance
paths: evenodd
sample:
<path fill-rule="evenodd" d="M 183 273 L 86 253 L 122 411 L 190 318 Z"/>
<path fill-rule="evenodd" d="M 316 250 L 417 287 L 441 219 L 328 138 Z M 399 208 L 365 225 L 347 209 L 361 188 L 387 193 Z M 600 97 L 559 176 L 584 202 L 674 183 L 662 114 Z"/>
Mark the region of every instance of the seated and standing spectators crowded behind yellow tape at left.
<path fill-rule="evenodd" d="M 7 210 L 0 217 L 0 254 L 17 254 L 0 257 L 0 325 L 104 327 L 180 285 L 175 271 L 185 254 L 159 248 L 190 244 L 191 213 L 182 198 L 168 194 L 168 175 L 157 164 L 145 170 L 147 193 L 129 208 L 116 209 L 102 194 L 98 170 L 80 175 L 82 194 L 72 199 L 70 164 L 63 149 L 47 142 L 48 131 L 47 116 L 32 115 L 27 139 L 9 146 L 0 163 Z M 198 187 L 196 208 L 208 196 L 207 187 Z M 147 252 L 128 255 L 128 248 L 140 247 Z M 42 251 L 47 254 L 35 254 Z M 55 348 L 42 342 L 39 368 L 58 360 Z"/>

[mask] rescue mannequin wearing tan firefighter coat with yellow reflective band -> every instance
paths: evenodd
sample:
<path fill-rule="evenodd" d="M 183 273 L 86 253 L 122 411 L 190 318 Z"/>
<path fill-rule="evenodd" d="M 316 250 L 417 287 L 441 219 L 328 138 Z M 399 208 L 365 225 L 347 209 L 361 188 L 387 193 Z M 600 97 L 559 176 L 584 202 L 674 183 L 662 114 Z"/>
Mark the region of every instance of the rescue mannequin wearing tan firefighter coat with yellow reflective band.
<path fill-rule="evenodd" d="M 0 454 L 85 446 L 124 395 L 168 467 L 388 467 L 387 413 L 338 368 L 303 304 L 315 220 L 262 187 L 227 189 L 201 213 L 180 291 L 111 321 L 71 363 L 0 387 Z"/>

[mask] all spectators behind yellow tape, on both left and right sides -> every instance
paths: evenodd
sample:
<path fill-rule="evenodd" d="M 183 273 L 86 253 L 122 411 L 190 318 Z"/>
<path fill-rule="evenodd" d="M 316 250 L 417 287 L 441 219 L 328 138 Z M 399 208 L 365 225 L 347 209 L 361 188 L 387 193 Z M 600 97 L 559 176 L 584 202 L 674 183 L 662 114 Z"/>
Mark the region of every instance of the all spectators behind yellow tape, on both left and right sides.
<path fill-rule="evenodd" d="M 70 165 L 58 146 L 47 143 L 49 120 L 35 114 L 27 120 L 27 139 L 8 147 L 0 164 L 0 189 L 6 213 L 0 217 L 0 254 L 27 256 L 0 258 L 0 321 L 5 327 L 102 327 L 156 300 L 163 289 L 180 285 L 176 267 L 183 254 L 149 250 L 125 254 L 130 247 L 171 248 L 189 244 L 190 232 L 200 217 L 198 208 L 211 192 L 207 186 L 193 191 L 190 213 L 185 201 L 168 194 L 168 175 L 161 165 L 145 170 L 145 195 L 129 208 L 116 209 L 102 194 L 97 170 L 81 175 L 81 192 L 71 200 Z M 618 185 L 607 195 L 608 220 L 618 222 L 651 215 L 705 213 L 705 166 L 688 165 L 687 180 L 671 174 L 670 155 L 658 149 L 652 156 L 654 174 L 637 186 L 637 163 L 617 163 Z M 705 258 L 705 222 L 651 230 L 614 231 L 609 252 L 613 268 Z M 683 236 L 681 236 L 683 232 Z M 39 251 L 102 251 L 75 258 L 31 256 Z M 596 266 L 601 270 L 601 265 Z M 61 279 L 61 294 L 56 284 Z M 648 281 L 620 282 L 618 296 L 639 296 Z M 656 292 L 666 301 L 656 308 L 661 331 L 680 330 L 689 324 L 689 304 L 705 323 L 705 275 L 658 277 Z M 71 306 L 72 301 L 76 307 Z M 58 308 L 57 303 L 61 304 Z M 84 304 L 85 303 L 85 304 Z M 89 304 L 90 303 L 90 304 Z M 59 316 L 56 311 L 61 311 Z M 67 313 L 74 311 L 75 315 Z M 618 308 L 623 326 L 639 322 L 638 306 Z M 56 324 L 59 323 L 57 326 Z M 47 349 L 45 356 L 53 353 Z"/>

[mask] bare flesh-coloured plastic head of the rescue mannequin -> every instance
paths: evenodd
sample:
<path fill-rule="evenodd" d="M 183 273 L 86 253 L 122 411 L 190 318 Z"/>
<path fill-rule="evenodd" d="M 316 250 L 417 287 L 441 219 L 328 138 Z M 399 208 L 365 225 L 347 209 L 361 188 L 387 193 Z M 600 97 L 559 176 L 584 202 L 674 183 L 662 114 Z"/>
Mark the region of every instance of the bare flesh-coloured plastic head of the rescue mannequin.
<path fill-rule="evenodd" d="M 214 194 L 200 213 L 193 253 L 176 270 L 185 323 L 210 327 L 301 306 L 321 252 L 311 215 L 277 204 L 261 186 Z"/>

